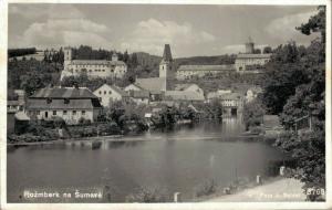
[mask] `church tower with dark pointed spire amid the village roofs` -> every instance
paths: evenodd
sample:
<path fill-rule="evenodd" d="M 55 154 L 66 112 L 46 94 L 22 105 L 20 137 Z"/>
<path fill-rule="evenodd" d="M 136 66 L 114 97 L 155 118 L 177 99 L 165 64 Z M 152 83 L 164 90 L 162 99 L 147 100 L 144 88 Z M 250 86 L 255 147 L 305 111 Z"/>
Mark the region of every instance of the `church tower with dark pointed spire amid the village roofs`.
<path fill-rule="evenodd" d="M 166 90 L 172 90 L 172 82 L 175 77 L 175 70 L 173 66 L 173 57 L 169 44 L 165 44 L 164 54 L 159 64 L 159 77 L 166 80 Z"/>

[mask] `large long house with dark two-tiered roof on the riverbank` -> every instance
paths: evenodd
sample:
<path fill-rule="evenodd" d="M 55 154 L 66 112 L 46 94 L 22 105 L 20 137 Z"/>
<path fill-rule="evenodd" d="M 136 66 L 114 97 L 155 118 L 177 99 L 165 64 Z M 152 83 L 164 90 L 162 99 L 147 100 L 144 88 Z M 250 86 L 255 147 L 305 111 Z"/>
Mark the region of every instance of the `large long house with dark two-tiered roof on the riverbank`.
<path fill-rule="evenodd" d="M 27 113 L 31 119 L 61 117 L 68 124 L 79 124 L 83 118 L 93 123 L 102 113 L 102 105 L 86 87 L 45 87 L 28 98 Z"/>

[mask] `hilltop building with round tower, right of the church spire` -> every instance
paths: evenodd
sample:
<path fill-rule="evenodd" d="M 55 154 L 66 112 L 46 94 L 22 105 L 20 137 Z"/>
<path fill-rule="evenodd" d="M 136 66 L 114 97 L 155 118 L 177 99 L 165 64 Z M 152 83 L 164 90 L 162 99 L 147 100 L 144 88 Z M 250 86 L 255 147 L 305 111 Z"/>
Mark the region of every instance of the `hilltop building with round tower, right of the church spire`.
<path fill-rule="evenodd" d="M 235 69 L 239 73 L 260 73 L 263 65 L 270 61 L 271 54 L 255 54 L 255 43 L 249 38 L 246 53 L 239 53 L 235 61 Z"/>

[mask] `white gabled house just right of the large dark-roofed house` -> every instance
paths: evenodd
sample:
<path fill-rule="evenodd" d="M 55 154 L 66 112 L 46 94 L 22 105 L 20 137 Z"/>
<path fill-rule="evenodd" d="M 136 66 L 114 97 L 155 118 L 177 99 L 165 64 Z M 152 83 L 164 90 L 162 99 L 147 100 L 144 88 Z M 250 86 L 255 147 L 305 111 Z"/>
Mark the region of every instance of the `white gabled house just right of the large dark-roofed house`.
<path fill-rule="evenodd" d="M 93 94 L 104 107 L 110 107 L 115 102 L 128 102 L 128 94 L 115 85 L 103 84 Z"/>

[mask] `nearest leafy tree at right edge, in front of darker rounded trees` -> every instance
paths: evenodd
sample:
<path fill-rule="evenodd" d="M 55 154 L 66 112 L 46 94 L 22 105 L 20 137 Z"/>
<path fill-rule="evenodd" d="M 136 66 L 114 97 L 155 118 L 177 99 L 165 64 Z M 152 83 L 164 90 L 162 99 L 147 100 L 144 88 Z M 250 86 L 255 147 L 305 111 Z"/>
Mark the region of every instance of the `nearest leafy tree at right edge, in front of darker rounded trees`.
<path fill-rule="evenodd" d="M 307 199 L 321 200 L 317 189 L 325 189 L 325 8 L 319 7 L 319 13 L 309 19 L 299 29 L 304 34 L 321 32 L 321 40 L 312 41 L 298 66 L 309 81 L 301 81 L 295 93 L 288 97 L 280 115 L 287 128 L 276 145 L 291 153 L 295 161 L 292 176 L 304 182 L 304 190 L 314 189 Z M 297 80 L 297 77 L 293 77 Z M 297 134 L 292 128 L 297 118 L 309 116 L 311 129 Z"/>

